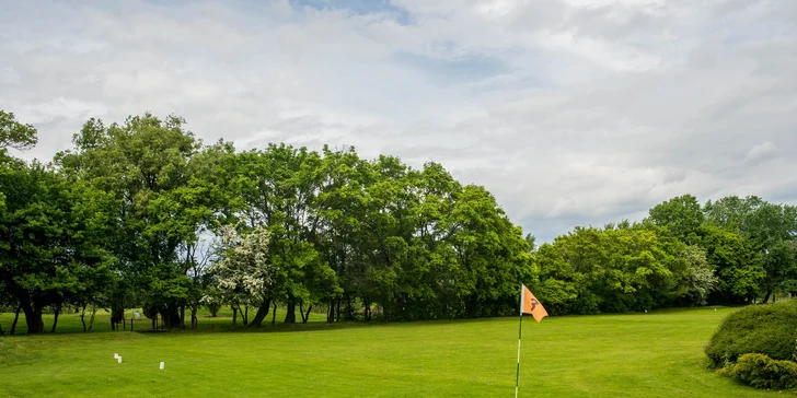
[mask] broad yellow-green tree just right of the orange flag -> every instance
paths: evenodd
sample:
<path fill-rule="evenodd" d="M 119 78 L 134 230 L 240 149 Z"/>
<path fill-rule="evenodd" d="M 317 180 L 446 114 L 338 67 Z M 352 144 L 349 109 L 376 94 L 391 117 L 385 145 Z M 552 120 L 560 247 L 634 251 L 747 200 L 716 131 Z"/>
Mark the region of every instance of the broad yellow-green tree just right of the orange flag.
<path fill-rule="evenodd" d="M 576 227 L 534 254 L 538 297 L 552 314 L 643 311 L 701 303 L 715 279 L 705 254 L 638 224 Z M 546 308 L 548 305 L 546 305 Z"/>

